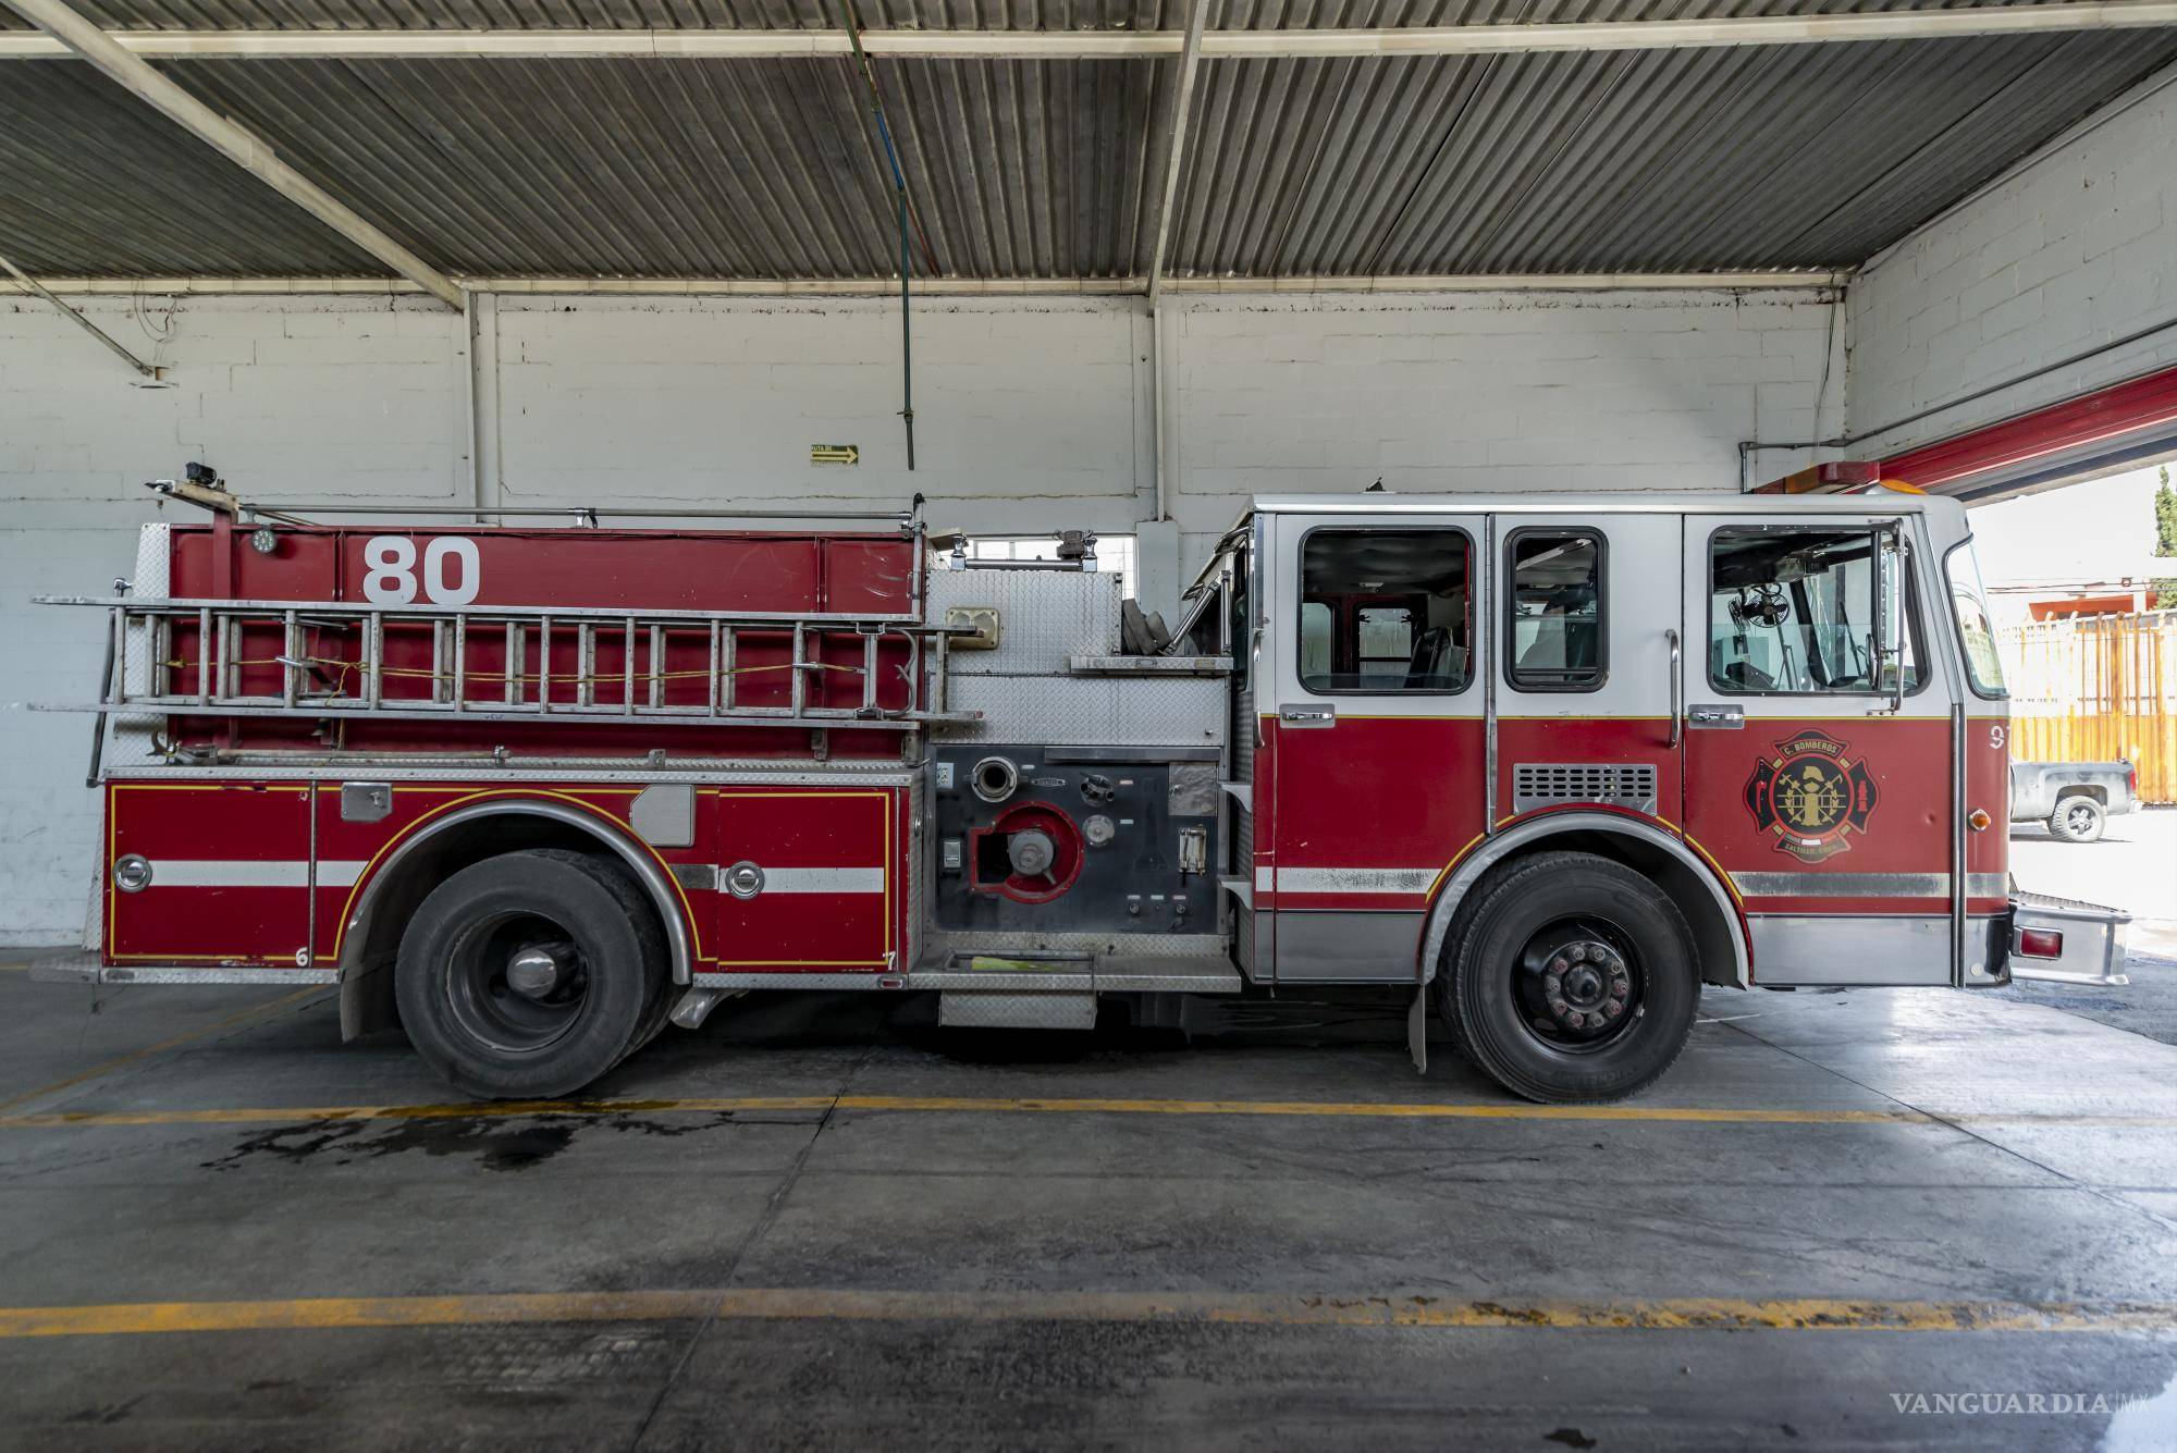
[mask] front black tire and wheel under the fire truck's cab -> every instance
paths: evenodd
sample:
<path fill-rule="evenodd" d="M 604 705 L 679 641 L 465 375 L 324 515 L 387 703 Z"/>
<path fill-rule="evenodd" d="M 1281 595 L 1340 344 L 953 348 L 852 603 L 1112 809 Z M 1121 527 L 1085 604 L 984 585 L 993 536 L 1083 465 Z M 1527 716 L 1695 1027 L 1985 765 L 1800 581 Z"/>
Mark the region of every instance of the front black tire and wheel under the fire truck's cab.
<path fill-rule="evenodd" d="M 1448 937 L 1437 983 L 1452 1044 L 1517 1096 L 1620 1101 L 1661 1079 L 1694 1031 L 1694 933 L 1624 864 L 1517 859 L 1474 887 Z"/>

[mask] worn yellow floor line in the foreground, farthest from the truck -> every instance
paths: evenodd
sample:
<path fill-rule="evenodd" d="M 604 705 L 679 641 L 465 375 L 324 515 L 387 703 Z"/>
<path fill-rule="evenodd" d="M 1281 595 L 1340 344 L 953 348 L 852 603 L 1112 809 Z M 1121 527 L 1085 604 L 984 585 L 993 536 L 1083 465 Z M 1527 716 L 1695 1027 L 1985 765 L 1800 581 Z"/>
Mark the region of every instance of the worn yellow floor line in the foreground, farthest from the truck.
<path fill-rule="evenodd" d="M 1461 1301 L 1424 1294 L 853 1292 L 731 1288 L 503 1296 L 320 1296 L 0 1307 L 0 1338 L 157 1331 L 318 1331 L 607 1320 L 1197 1322 L 1254 1327 L 1546 1327 L 1620 1331 L 2090 1331 L 2177 1329 L 2173 1303 L 1626 1299 Z"/>

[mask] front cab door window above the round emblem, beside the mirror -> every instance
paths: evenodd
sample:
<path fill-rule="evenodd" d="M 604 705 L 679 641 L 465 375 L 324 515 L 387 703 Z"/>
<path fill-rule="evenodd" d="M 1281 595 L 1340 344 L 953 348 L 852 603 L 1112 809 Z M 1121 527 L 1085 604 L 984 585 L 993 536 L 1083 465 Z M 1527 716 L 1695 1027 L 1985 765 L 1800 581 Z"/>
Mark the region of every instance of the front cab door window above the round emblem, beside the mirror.
<path fill-rule="evenodd" d="M 1870 529 L 1724 529 L 1709 539 L 1709 683 L 1752 696 L 1870 696 L 1879 537 Z M 1911 592 L 1907 592 L 1911 603 Z M 1905 690 L 1920 690 L 1920 622 L 1905 611 Z"/>

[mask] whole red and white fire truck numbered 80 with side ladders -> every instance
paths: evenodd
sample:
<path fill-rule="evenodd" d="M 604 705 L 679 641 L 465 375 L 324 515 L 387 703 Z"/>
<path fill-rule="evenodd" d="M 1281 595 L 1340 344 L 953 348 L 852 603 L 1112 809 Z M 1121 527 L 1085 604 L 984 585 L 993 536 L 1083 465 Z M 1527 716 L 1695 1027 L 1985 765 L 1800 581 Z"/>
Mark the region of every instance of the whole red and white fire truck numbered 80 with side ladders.
<path fill-rule="evenodd" d="M 472 1096 L 751 990 L 1091 1029 L 1380 985 L 1417 1068 L 1435 1009 L 1509 1092 L 1607 1101 L 1709 985 L 2123 983 L 2120 914 L 2012 892 L 1966 511 L 1909 487 L 1263 496 L 1169 629 L 1091 537 L 984 563 L 919 498 L 152 487 L 209 518 L 46 598 L 109 618 L 48 977 L 337 985 Z"/>

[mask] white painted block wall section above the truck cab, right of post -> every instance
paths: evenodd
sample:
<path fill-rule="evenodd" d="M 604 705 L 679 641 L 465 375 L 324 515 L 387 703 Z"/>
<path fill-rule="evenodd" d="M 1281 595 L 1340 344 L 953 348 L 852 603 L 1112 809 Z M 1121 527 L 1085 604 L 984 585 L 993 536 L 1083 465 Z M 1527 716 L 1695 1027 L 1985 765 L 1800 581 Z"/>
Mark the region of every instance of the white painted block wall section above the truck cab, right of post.
<path fill-rule="evenodd" d="M 1250 494 L 1737 489 L 1739 439 L 1842 420 L 1803 294 L 1182 296 L 1182 566 Z M 1796 468 L 1803 457 L 1766 455 Z M 1776 463 L 1785 461 L 1785 463 Z"/>

